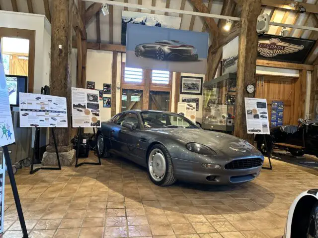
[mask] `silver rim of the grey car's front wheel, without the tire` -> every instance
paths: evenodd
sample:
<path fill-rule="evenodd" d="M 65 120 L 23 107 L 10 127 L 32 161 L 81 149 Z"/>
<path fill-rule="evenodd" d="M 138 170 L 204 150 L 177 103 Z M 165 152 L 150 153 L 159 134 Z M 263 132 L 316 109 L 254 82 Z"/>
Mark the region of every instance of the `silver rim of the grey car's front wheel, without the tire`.
<path fill-rule="evenodd" d="M 150 176 L 155 181 L 161 181 L 165 175 L 166 164 L 161 150 L 153 149 L 149 154 L 148 167 Z"/>

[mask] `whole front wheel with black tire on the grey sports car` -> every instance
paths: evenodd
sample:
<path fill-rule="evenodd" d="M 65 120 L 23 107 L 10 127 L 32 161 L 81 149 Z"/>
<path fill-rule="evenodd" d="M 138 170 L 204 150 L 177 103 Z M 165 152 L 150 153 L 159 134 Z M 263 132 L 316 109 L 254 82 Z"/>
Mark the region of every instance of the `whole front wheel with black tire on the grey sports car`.
<path fill-rule="evenodd" d="M 170 154 L 161 144 L 155 144 L 149 150 L 147 168 L 149 178 L 156 185 L 169 186 L 176 181 Z"/>

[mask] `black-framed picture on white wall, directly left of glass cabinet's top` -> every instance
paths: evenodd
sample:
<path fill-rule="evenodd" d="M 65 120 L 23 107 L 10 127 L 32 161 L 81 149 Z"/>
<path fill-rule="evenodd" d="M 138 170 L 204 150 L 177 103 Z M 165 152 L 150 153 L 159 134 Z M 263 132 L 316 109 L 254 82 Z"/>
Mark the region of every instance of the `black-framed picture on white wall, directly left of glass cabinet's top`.
<path fill-rule="evenodd" d="M 180 94 L 202 95 L 203 77 L 181 76 Z"/>

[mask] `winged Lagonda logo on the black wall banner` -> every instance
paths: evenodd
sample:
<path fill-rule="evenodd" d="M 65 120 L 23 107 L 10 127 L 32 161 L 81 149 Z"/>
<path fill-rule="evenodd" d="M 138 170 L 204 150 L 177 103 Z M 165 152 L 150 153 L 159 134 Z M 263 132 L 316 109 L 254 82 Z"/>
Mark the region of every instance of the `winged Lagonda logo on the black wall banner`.
<path fill-rule="evenodd" d="M 282 54 L 291 54 L 304 49 L 304 46 L 298 46 L 280 41 L 278 38 L 269 40 L 258 40 L 257 51 L 264 57 L 275 57 Z"/>

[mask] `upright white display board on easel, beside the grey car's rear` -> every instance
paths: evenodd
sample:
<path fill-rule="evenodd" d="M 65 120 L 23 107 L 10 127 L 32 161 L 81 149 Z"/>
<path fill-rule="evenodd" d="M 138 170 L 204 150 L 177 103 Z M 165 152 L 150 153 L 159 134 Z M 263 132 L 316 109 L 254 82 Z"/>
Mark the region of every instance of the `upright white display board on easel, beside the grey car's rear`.
<path fill-rule="evenodd" d="M 72 88 L 73 127 L 100 127 L 99 92 Z"/>

